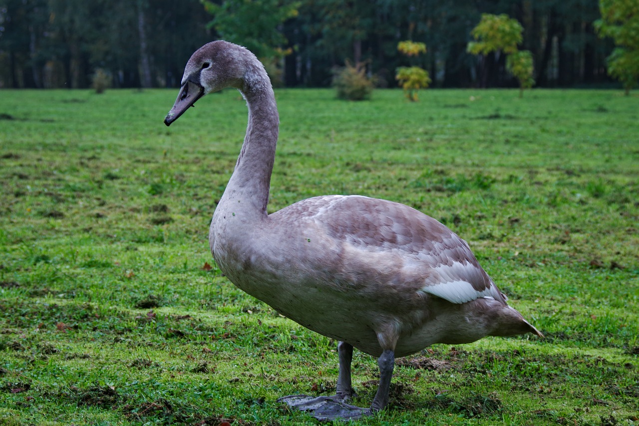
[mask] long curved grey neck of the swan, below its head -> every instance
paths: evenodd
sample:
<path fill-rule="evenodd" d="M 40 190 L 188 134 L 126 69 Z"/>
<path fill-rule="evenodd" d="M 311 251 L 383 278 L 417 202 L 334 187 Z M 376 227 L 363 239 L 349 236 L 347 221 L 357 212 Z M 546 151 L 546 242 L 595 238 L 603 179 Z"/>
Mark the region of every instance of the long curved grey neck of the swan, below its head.
<path fill-rule="evenodd" d="M 261 67 L 260 67 L 261 68 Z M 279 114 L 268 75 L 255 70 L 240 88 L 249 107 L 249 123 L 235 171 L 220 200 L 258 216 L 266 216 Z"/>

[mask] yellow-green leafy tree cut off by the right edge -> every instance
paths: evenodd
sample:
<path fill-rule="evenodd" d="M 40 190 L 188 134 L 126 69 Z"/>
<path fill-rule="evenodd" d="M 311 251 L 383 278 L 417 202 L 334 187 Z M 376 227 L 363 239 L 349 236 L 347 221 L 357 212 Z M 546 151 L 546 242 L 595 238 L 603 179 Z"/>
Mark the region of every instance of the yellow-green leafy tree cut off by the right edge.
<path fill-rule="evenodd" d="M 639 1 L 599 0 L 601 19 L 595 22 L 601 37 L 614 40 L 608 56 L 608 74 L 619 80 L 626 95 L 639 80 Z"/>

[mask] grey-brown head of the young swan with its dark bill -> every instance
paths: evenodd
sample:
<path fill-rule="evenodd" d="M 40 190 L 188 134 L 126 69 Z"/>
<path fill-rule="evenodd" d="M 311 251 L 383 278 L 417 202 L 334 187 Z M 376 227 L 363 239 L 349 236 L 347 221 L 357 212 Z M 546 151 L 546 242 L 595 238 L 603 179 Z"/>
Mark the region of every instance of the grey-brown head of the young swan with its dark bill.
<path fill-rule="evenodd" d="M 243 91 L 251 76 L 263 66 L 249 50 L 233 43 L 217 40 L 206 43 L 191 55 L 184 68 L 180 93 L 164 118 L 168 126 L 196 101 L 227 87 Z"/>

